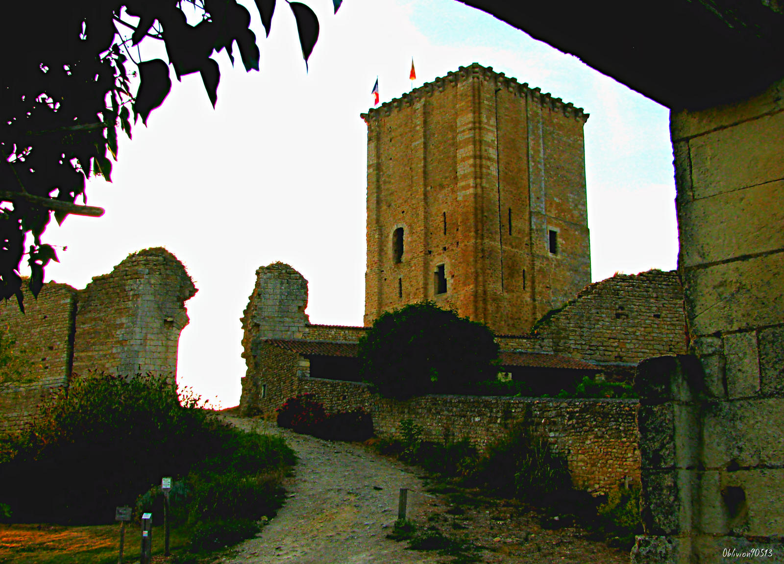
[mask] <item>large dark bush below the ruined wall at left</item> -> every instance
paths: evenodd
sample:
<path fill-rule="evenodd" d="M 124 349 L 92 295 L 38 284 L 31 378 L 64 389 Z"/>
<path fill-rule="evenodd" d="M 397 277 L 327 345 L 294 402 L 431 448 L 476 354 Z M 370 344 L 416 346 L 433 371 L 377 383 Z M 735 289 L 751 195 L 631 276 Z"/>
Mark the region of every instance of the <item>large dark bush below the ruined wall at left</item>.
<path fill-rule="evenodd" d="M 256 476 L 293 462 L 281 439 L 245 434 L 200 409 L 198 398 L 181 399 L 150 375 L 74 379 L 27 431 L 2 442 L 0 501 L 15 522 L 110 523 L 115 507 L 133 505 L 162 476 L 175 478 L 172 495 L 191 503 L 223 471 Z M 189 476 L 194 470 L 201 481 Z M 161 501 L 151 493 L 146 503 Z M 172 516 L 184 517 L 181 503 Z"/>

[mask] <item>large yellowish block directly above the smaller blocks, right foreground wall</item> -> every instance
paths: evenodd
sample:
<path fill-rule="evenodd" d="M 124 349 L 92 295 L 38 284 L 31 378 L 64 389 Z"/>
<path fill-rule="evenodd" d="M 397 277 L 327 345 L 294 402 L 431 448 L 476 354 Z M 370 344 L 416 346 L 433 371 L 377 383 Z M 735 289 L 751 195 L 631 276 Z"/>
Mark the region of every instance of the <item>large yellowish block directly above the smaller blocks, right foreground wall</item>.
<path fill-rule="evenodd" d="M 729 333 L 784 322 L 784 253 L 684 271 L 690 333 Z"/>

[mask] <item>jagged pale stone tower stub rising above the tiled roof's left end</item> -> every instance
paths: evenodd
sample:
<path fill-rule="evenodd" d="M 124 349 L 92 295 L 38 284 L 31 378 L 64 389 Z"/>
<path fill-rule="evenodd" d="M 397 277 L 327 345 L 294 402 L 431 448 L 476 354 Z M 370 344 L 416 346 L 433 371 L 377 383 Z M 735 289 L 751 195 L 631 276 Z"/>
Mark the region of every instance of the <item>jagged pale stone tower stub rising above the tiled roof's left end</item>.
<path fill-rule="evenodd" d="M 307 280 L 288 264 L 277 262 L 256 271 L 256 286 L 242 313 L 242 358 L 248 373 L 264 339 L 302 337 L 308 317 Z"/>

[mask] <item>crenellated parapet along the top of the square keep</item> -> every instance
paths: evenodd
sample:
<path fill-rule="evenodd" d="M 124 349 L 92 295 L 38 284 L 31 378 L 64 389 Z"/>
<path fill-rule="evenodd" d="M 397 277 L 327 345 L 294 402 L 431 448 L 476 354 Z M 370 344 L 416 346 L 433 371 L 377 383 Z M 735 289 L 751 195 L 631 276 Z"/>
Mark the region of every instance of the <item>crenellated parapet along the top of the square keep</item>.
<path fill-rule="evenodd" d="M 422 86 L 399 98 L 383 102 L 379 107 L 373 107 L 367 113 L 361 114 L 361 118 L 369 125 L 372 120 L 391 115 L 393 111 L 417 104 L 427 97 L 433 96 L 434 93 L 444 92 L 450 87 L 456 87 L 474 79 L 492 83 L 495 88 L 504 89 L 517 97 L 527 98 L 531 103 L 539 104 L 542 108 L 550 111 L 562 113 L 567 118 L 579 119 L 585 123 L 590 116 L 583 111 L 582 107 L 575 107 L 575 104 L 571 102 L 555 98 L 551 93 L 542 93 L 540 88 L 531 88 L 528 86 L 528 82 L 517 82 L 517 78 L 506 76 L 503 72 L 495 72 L 492 67 L 483 67 L 481 64 L 473 63 L 468 67 L 459 67 L 457 71 L 449 71 L 446 76 L 438 77 L 432 82 L 425 82 Z"/>

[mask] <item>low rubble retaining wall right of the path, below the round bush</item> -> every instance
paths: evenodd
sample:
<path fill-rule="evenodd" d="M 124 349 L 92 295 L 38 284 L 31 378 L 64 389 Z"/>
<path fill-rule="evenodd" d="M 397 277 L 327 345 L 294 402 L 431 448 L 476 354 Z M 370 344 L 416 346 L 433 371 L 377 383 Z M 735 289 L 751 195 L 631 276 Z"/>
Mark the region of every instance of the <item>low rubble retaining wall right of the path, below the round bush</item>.
<path fill-rule="evenodd" d="M 566 457 L 575 486 L 606 493 L 625 478 L 640 483 L 637 400 L 428 395 L 397 402 L 365 384 L 299 378 L 299 393 L 306 391 L 328 412 L 367 410 L 377 435 L 399 436 L 401 420 L 411 419 L 427 439 L 469 438 L 481 450 L 522 424 Z"/>

